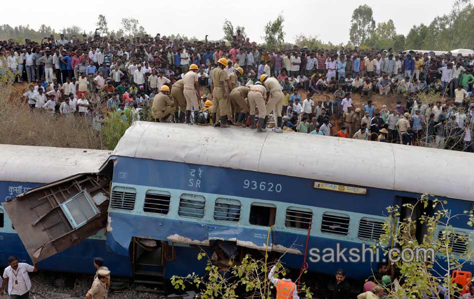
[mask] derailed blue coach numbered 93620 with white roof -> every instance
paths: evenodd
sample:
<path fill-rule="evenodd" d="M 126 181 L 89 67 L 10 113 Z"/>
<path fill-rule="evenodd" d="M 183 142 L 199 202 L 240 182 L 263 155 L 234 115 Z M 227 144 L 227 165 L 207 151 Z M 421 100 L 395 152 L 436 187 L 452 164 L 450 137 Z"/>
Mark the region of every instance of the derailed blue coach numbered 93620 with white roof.
<path fill-rule="evenodd" d="M 145 283 L 204 271 L 204 262 L 197 260 L 201 249 L 228 255 L 285 253 L 289 268 L 306 261 L 309 271 L 332 275 L 343 268 L 351 278 L 364 279 L 385 258 L 380 253 L 374 260 L 369 248 L 384 233 L 386 207 L 429 193 L 448 200 L 453 213 L 472 209 L 473 162 L 472 154 L 440 149 L 136 122 L 101 169 L 89 171 L 108 172 L 109 187 L 81 200 L 99 207 L 105 203 L 97 198 L 105 194 L 107 210 L 82 211 L 81 224 L 70 216 L 79 214 L 80 202 L 77 210 L 68 210 L 64 206 L 71 199 L 65 196 L 56 209 L 66 222 L 60 237 L 80 239 L 81 230 L 90 231 L 86 227 L 104 217 L 107 252 L 122 261 L 125 275 Z M 461 179 L 447 175 L 453 171 Z M 50 185 L 60 184 L 64 180 Z M 39 200 L 38 194 L 29 190 L 17 204 L 28 196 Z M 466 222 L 454 219 L 452 225 L 465 234 L 470 232 Z M 20 237 L 27 231 L 22 228 Z M 417 228 L 417 238 L 424 233 L 422 225 Z M 44 244 L 63 248 L 75 242 L 58 245 L 50 235 Z M 40 248 L 49 252 L 44 244 Z M 455 254 L 468 249 L 454 241 L 451 246 Z"/>

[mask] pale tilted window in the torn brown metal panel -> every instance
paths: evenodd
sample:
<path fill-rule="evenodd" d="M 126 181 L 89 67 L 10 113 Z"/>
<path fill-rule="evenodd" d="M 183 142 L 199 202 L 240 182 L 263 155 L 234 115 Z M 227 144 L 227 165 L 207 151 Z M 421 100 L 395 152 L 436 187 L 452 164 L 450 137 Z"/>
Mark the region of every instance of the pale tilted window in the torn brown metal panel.
<path fill-rule="evenodd" d="M 59 206 L 73 228 L 81 227 L 100 213 L 86 190 L 60 203 Z"/>

